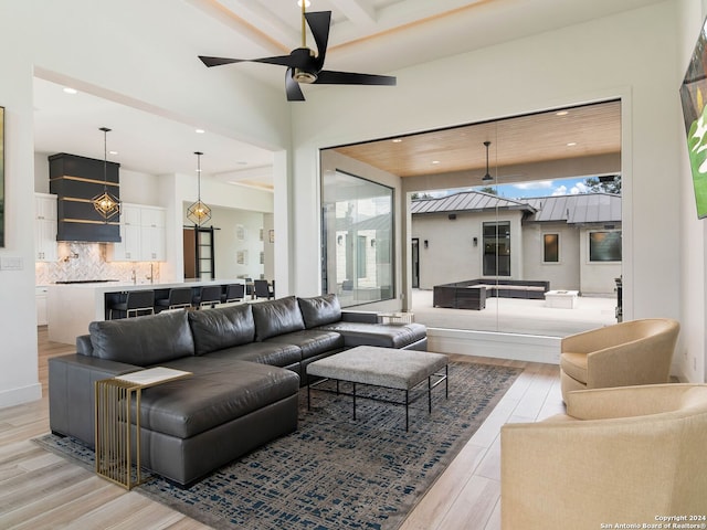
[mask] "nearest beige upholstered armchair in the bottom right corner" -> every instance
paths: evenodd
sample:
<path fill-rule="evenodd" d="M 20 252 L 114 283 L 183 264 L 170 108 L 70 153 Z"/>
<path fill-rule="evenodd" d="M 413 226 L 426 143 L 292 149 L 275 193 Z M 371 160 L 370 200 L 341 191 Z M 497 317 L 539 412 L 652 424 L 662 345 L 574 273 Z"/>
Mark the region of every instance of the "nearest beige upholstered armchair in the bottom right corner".
<path fill-rule="evenodd" d="M 707 384 L 571 392 L 567 415 L 502 427 L 502 529 L 706 515 L 706 447 Z"/>

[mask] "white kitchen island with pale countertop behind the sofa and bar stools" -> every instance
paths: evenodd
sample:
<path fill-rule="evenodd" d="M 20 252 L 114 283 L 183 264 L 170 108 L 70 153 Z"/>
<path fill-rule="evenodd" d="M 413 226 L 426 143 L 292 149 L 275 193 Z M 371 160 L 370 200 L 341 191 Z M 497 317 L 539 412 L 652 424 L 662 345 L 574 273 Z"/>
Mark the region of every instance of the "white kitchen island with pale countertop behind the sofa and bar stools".
<path fill-rule="evenodd" d="M 244 284 L 244 279 L 187 279 L 163 284 L 133 284 L 122 282 L 97 282 L 52 284 L 46 288 L 46 312 L 49 340 L 73 344 L 76 337 L 88 333 L 94 320 L 107 319 L 107 303 L 125 296 L 130 290 L 154 289 L 156 298 L 167 297 L 172 287 Z"/>

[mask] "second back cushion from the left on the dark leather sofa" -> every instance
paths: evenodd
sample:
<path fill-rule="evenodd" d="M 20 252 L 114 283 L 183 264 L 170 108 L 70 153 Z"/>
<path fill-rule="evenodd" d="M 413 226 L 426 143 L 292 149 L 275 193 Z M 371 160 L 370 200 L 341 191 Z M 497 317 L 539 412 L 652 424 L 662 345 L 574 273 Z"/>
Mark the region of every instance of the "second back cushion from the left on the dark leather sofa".
<path fill-rule="evenodd" d="M 197 356 L 246 344 L 255 339 L 255 321 L 250 304 L 189 311 L 189 326 Z"/>

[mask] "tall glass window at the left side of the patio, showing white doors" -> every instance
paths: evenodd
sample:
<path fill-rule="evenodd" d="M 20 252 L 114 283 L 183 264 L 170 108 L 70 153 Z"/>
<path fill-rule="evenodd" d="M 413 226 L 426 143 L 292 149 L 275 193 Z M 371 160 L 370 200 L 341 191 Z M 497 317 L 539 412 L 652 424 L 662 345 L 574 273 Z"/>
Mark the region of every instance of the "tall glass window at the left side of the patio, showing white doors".
<path fill-rule="evenodd" d="M 392 298 L 393 190 L 327 171 L 323 198 L 324 292 L 342 307 Z"/>

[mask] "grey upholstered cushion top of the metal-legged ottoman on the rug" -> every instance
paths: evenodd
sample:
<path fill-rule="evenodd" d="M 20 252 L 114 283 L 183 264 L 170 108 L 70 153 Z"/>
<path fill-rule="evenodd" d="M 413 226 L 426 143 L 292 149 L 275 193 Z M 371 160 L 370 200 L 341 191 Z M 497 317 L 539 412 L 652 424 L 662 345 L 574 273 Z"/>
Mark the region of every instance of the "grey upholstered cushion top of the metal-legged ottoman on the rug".
<path fill-rule="evenodd" d="M 390 389 L 410 390 L 447 364 L 429 351 L 358 346 L 307 367 L 307 374 Z"/>

